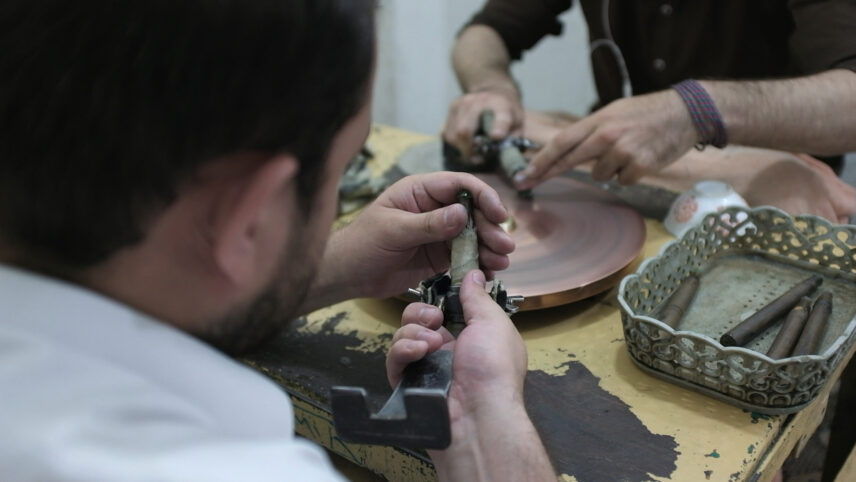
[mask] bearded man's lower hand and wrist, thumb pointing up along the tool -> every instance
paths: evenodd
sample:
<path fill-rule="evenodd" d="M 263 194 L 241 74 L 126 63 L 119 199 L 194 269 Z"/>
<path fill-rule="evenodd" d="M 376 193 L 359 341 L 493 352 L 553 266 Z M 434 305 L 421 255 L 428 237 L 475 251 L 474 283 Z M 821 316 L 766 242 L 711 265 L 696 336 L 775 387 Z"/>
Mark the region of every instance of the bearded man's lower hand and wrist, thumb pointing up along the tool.
<path fill-rule="evenodd" d="M 467 326 L 457 340 L 441 326 L 438 308 L 409 305 L 387 355 L 387 376 L 395 385 L 408 363 L 438 349 L 454 351 L 452 445 L 430 452 L 440 480 L 556 480 L 523 404 L 523 340 L 484 285 L 478 270 L 461 284 Z"/>

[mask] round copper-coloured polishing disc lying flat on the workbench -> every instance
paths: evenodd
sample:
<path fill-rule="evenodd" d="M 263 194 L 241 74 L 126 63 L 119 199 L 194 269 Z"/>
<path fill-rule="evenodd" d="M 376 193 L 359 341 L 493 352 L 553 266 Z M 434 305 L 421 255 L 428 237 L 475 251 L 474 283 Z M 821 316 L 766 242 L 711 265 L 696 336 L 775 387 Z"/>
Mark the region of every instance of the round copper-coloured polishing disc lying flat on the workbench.
<path fill-rule="evenodd" d="M 499 175 L 478 174 L 509 210 L 506 230 L 517 248 L 497 277 L 509 295 L 523 295 L 520 309 L 571 303 L 621 281 L 645 242 L 642 216 L 597 187 L 554 177 L 522 199 Z"/>

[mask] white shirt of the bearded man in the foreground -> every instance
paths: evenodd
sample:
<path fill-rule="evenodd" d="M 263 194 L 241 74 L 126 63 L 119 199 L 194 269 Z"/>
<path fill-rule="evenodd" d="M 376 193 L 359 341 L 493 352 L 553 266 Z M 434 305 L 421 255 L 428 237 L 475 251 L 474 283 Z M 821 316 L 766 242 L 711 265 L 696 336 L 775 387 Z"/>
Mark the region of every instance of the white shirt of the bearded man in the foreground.
<path fill-rule="evenodd" d="M 0 265 L 0 480 L 341 480 L 288 397 L 82 287 Z"/>

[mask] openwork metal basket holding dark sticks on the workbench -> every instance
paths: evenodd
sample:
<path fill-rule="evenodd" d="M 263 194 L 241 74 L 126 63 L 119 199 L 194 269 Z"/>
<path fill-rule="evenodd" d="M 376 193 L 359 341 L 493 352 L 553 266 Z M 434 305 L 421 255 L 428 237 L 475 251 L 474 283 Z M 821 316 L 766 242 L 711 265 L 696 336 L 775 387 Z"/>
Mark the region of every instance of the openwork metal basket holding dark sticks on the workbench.
<path fill-rule="evenodd" d="M 696 295 L 677 329 L 654 318 L 691 274 Z M 780 323 L 745 347 L 719 337 L 798 281 L 823 277 L 833 311 L 817 355 L 774 360 L 764 353 Z M 624 339 L 643 370 L 760 413 L 796 412 L 841 363 L 856 333 L 856 226 L 775 208 L 728 208 L 663 247 L 621 282 Z"/>

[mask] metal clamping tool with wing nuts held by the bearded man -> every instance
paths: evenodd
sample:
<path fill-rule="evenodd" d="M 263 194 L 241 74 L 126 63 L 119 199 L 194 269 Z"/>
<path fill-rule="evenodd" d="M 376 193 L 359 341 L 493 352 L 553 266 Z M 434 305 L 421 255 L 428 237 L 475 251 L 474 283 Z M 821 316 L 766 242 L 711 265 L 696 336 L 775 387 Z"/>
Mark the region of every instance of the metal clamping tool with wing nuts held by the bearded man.
<path fill-rule="evenodd" d="M 461 191 L 458 201 L 467 208 L 469 220 L 452 241 L 450 272 L 433 276 L 420 283 L 419 290 L 411 290 L 422 302 L 443 310 L 444 324 L 455 337 L 465 326 L 459 299 L 461 281 L 479 266 L 472 194 Z M 499 280 L 494 280 L 490 295 L 509 315 L 517 312 L 515 303 L 523 300 L 507 296 Z M 376 414 L 369 413 L 364 388 L 333 387 L 330 398 L 336 432 L 352 443 L 444 449 L 452 440 L 448 405 L 451 383 L 452 352 L 437 350 L 405 368 L 401 382 Z"/>

